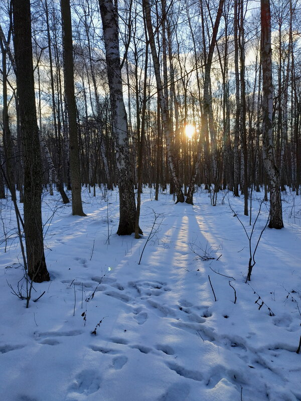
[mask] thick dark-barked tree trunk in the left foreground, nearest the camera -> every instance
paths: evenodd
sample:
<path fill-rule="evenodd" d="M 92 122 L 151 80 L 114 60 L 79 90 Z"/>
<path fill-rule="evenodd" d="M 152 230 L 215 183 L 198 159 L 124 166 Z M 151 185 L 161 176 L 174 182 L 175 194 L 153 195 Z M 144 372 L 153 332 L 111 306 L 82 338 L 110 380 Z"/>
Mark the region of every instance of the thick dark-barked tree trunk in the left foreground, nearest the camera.
<path fill-rule="evenodd" d="M 41 213 L 41 148 L 35 102 L 30 0 L 13 0 L 17 89 L 24 154 L 24 232 L 28 274 L 35 282 L 50 280 Z"/>

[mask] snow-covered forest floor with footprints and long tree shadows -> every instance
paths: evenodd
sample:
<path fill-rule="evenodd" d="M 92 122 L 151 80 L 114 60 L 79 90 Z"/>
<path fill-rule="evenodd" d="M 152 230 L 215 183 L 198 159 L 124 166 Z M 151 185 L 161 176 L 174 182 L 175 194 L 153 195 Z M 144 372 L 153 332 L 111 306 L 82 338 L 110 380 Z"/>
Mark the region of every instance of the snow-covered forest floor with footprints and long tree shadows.
<path fill-rule="evenodd" d="M 282 195 L 285 228 L 264 231 L 246 284 L 242 197 L 229 196 L 235 217 L 225 192 L 216 207 L 204 190 L 193 207 L 154 195 L 144 188 L 139 240 L 115 234 L 117 191 L 84 189 L 85 218 L 45 195 L 51 282 L 34 284 L 28 309 L 9 286 L 24 273 L 2 200 L 1 400 L 301 400 L 300 196 Z M 262 194 L 252 196 L 254 222 Z M 266 219 L 262 205 L 252 251 Z"/>

